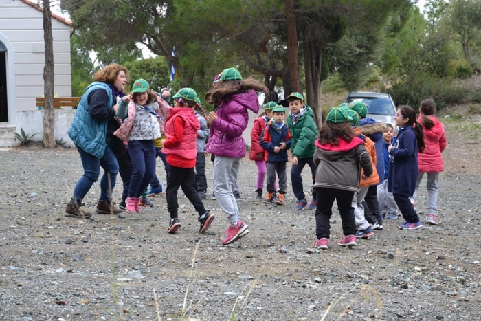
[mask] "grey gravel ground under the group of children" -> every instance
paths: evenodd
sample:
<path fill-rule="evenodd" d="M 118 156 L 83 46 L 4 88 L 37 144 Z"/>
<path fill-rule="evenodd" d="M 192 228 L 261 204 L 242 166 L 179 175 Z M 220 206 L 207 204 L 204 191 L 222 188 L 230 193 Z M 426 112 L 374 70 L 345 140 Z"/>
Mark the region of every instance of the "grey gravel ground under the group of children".
<path fill-rule="evenodd" d="M 250 233 L 223 246 L 227 221 L 214 200 L 205 201 L 216 214 L 207 234 L 197 233 L 183 196 L 174 235 L 165 197 L 124 219 L 66 218 L 82 174 L 76 151 L 0 151 L 0 319 L 481 320 L 479 128 L 446 124 L 440 225 L 403 231 L 400 220 L 385 221 L 349 250 L 335 245 L 335 212 L 324 252 L 313 248 L 314 211 L 293 210 L 292 193 L 284 207 L 254 199 L 256 167 L 247 158 L 239 206 Z M 165 181 L 160 164 L 157 173 Z M 304 175 L 309 181 L 307 168 Z M 85 199 L 91 212 L 98 194 L 95 184 Z M 425 195 L 416 204 L 423 220 Z"/>

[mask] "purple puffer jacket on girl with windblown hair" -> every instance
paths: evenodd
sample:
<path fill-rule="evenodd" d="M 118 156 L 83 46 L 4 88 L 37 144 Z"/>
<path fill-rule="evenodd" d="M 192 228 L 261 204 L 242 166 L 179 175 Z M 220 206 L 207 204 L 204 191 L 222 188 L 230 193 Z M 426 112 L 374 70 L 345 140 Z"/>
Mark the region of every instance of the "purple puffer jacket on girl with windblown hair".
<path fill-rule="evenodd" d="M 245 140 L 242 133 L 247 128 L 247 109 L 258 113 L 259 100 L 256 91 L 235 93 L 216 109 L 217 119 L 210 125 L 210 138 L 205 151 L 222 157 L 244 157 Z"/>

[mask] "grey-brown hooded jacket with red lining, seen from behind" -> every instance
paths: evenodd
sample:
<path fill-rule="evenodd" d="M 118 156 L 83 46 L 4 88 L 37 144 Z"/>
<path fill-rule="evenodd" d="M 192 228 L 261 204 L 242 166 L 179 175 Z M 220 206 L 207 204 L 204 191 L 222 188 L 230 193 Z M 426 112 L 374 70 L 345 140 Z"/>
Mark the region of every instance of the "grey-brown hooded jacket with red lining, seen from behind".
<path fill-rule="evenodd" d="M 350 142 L 339 138 L 339 146 L 316 140 L 315 146 L 314 187 L 358 192 L 361 168 L 364 175 L 372 175 L 371 160 L 360 138 L 354 137 Z"/>

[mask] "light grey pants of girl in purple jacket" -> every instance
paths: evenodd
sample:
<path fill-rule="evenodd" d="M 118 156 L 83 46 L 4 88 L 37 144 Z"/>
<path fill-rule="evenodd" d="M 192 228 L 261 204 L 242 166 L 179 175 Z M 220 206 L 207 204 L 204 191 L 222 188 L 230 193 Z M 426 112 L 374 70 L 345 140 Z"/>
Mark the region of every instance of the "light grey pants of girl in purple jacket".
<path fill-rule="evenodd" d="M 214 194 L 219 206 L 221 206 L 231 224 L 237 223 L 240 219 L 234 190 L 237 186 L 241 160 L 242 157 L 216 156 L 214 162 L 214 179 L 212 181 Z"/>

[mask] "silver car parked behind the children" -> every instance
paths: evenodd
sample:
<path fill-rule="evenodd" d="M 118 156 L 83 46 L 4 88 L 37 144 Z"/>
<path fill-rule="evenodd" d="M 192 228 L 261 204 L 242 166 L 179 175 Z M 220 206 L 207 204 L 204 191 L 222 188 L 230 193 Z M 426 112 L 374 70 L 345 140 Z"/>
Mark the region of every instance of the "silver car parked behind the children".
<path fill-rule="evenodd" d="M 388 93 L 350 92 L 344 102 L 363 102 L 368 107 L 368 116 L 379 122 L 388 122 L 396 128 L 394 115 L 396 105 Z"/>

